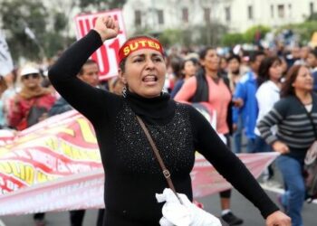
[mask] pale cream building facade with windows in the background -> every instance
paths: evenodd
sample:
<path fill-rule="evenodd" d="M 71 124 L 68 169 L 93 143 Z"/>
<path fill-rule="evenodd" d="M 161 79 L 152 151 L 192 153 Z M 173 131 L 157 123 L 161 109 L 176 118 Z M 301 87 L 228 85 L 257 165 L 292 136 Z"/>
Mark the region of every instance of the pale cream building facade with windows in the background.
<path fill-rule="evenodd" d="M 123 7 L 128 33 L 188 25 L 225 24 L 231 33 L 251 26 L 302 23 L 317 11 L 317 0 L 128 0 Z"/>

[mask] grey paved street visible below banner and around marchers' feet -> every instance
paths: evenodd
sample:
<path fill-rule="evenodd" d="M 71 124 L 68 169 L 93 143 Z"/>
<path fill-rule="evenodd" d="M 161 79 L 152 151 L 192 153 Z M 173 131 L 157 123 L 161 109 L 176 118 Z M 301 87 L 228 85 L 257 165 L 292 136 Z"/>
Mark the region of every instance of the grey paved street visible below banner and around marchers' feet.
<path fill-rule="evenodd" d="M 270 188 L 275 192 L 278 192 L 278 189 Z M 268 192 L 270 197 L 276 201 L 275 192 Z M 219 215 L 219 198 L 218 195 L 212 195 L 207 198 L 198 200 L 203 202 L 205 209 L 209 212 L 213 212 L 216 215 Z M 262 219 L 260 213 L 255 209 L 253 204 L 246 201 L 245 198 L 240 194 L 234 191 L 233 200 L 232 200 L 232 209 L 235 214 L 242 217 L 245 220 L 244 226 L 257 226 L 264 225 L 264 220 Z M 303 208 L 303 219 L 305 226 L 315 226 L 316 225 L 316 212 L 317 204 L 307 204 L 305 203 Z M 49 212 L 47 213 L 48 226 L 68 226 L 69 225 L 69 214 L 68 212 Z M 1 217 L 4 221 L 5 226 L 32 226 L 32 216 L 6 216 Z M 97 211 L 91 210 L 86 212 L 83 226 L 94 226 L 97 219 Z M 0 224 L 1 225 L 1 224 Z"/>

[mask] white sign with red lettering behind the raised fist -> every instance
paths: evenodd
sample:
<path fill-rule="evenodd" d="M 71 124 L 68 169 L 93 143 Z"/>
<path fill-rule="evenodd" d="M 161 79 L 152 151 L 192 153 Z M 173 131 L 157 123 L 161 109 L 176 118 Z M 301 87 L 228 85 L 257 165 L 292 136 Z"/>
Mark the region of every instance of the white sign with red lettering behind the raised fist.
<path fill-rule="evenodd" d="M 118 52 L 120 46 L 127 40 L 125 32 L 123 16 L 120 9 L 101 12 L 97 14 L 79 14 L 75 17 L 77 39 L 82 38 L 86 33 L 89 33 L 93 28 L 99 16 L 112 16 L 118 21 L 120 26 L 119 35 L 107 40 L 103 43 L 101 48 L 93 52 L 91 59 L 98 62 L 100 70 L 100 80 L 107 80 L 113 76 L 118 75 Z"/>

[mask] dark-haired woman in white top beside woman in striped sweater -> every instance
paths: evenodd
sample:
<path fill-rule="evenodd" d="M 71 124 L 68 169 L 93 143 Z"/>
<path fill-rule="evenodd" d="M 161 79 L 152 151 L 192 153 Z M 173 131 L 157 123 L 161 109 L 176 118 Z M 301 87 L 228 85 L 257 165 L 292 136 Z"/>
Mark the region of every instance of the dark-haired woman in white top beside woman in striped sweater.
<path fill-rule="evenodd" d="M 280 99 L 281 78 L 283 68 L 282 61 L 277 56 L 265 57 L 260 64 L 259 75 L 257 77 L 258 89 L 255 93 L 259 113 L 256 119 L 258 123 L 273 107 L 274 103 Z M 265 143 L 264 138 L 257 127 L 255 127 L 255 152 L 271 152 L 271 146 Z M 271 180 L 274 176 L 274 169 L 269 165 L 264 171 L 264 183 L 274 184 Z"/>

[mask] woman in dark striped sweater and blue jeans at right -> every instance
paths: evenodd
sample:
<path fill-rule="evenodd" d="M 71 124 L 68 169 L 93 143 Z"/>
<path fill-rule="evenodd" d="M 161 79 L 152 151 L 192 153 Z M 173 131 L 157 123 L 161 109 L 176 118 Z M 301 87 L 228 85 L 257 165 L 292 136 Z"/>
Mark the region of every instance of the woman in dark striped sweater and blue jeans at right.
<path fill-rule="evenodd" d="M 281 97 L 257 127 L 266 143 L 281 154 L 276 164 L 282 172 L 286 192 L 280 202 L 292 218 L 292 225 L 303 226 L 303 160 L 316 139 L 313 128 L 317 127 L 317 96 L 312 93 L 312 74 L 306 66 L 295 65 L 288 71 Z M 271 130 L 274 126 L 276 134 Z"/>

